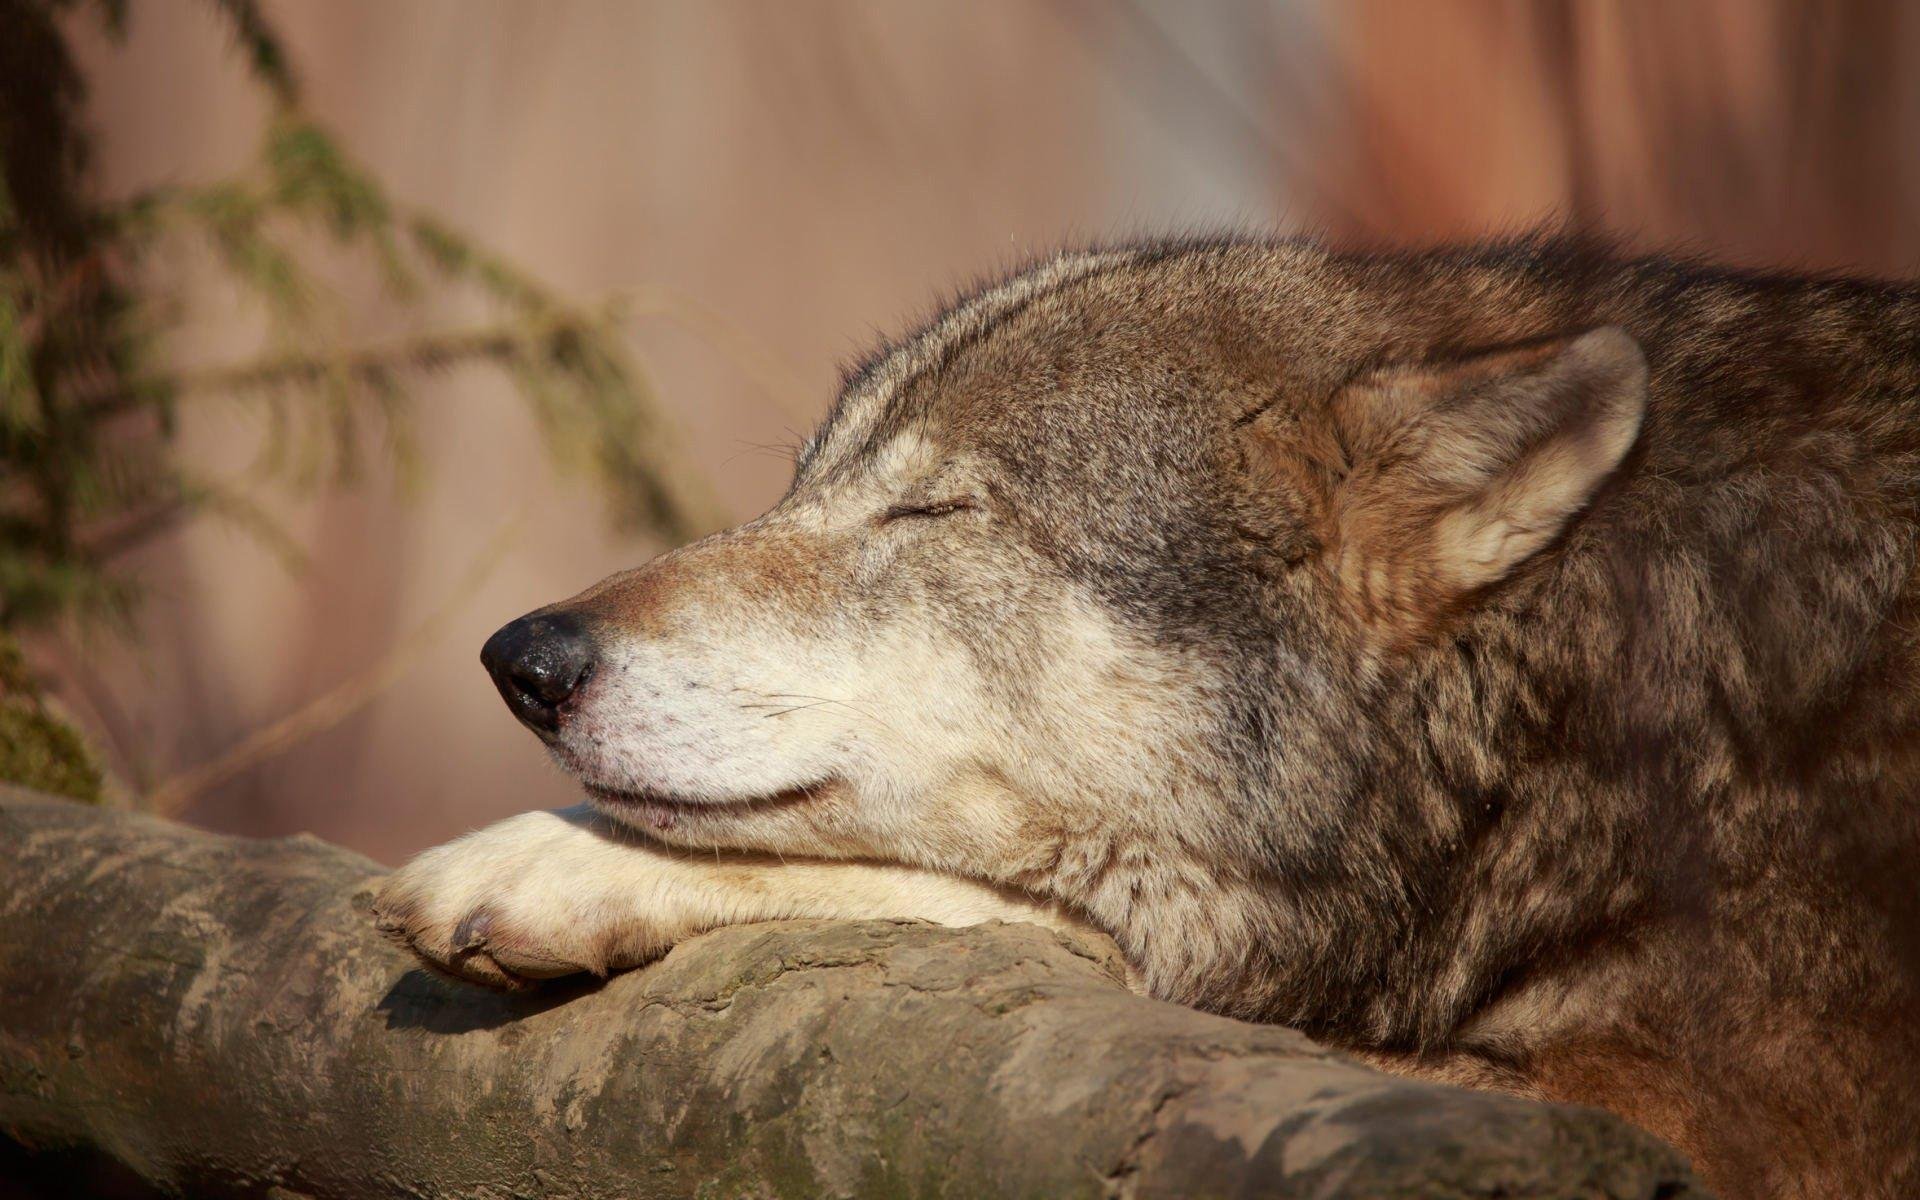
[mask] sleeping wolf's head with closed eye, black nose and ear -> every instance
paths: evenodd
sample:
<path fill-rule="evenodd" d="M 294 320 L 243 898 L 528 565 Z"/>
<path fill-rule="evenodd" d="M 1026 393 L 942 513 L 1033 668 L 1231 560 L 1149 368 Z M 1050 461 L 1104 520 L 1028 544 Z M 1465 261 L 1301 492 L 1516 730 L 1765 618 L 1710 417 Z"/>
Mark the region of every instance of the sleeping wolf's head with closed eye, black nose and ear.
<path fill-rule="evenodd" d="M 1027 887 L 1162 995 L 1311 1020 L 1467 820 L 1402 785 L 1421 655 L 1594 501 L 1645 384 L 1498 265 L 1068 255 L 856 371 L 764 516 L 484 659 L 657 839 Z"/>

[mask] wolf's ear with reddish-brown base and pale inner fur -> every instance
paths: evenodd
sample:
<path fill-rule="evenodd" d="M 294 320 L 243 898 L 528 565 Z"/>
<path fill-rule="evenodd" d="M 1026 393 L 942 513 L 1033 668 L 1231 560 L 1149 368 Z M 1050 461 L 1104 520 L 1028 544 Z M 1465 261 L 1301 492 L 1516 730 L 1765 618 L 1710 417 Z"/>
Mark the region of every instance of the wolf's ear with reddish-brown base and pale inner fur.
<path fill-rule="evenodd" d="M 1617 326 L 1340 392 L 1329 551 L 1369 622 L 1413 634 L 1548 545 L 1620 465 L 1647 361 Z"/>

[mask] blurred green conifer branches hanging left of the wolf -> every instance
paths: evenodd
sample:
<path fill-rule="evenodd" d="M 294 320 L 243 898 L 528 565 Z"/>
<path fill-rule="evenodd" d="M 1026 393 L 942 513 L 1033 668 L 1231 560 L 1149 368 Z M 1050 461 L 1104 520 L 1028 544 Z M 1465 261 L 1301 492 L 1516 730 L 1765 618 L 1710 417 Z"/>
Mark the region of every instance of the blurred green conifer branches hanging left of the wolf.
<path fill-rule="evenodd" d="M 207 0 L 207 12 L 269 100 L 259 154 L 232 179 L 106 200 L 88 186 L 71 36 L 92 23 L 117 38 L 123 0 L 0 0 L 0 637 L 54 622 L 129 632 L 140 591 L 123 555 L 202 515 L 298 564 L 261 490 L 349 484 L 371 445 L 403 482 L 415 478 L 409 386 L 461 365 L 511 378 L 551 455 L 605 486 L 618 524 L 670 540 L 718 526 L 622 346 L 622 313 L 568 303 L 396 204 L 305 113 L 257 2 Z M 259 313 L 255 357 L 194 369 L 169 359 L 188 313 L 163 280 L 179 276 L 180 255 L 209 259 Z M 459 296 L 490 317 L 353 338 L 353 313 L 323 284 L 323 267 L 344 259 L 376 273 L 396 313 L 386 326 L 419 326 L 428 301 Z M 186 403 L 227 405 L 261 428 L 253 467 L 221 480 L 180 461 Z M 17 655 L 8 662 L 17 672 Z M 29 680 L 15 684 L 10 695 L 33 695 Z M 6 747 L 52 722 L 29 699 L 6 712 Z M 38 770 L 38 758 L 8 755 L 0 778 Z"/>

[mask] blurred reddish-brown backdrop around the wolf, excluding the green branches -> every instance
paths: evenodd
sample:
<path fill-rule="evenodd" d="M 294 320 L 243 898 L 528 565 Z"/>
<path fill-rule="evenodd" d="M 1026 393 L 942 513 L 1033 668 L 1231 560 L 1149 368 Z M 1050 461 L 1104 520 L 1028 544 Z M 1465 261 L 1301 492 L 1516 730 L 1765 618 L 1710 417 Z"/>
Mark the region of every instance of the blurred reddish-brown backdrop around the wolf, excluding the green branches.
<path fill-rule="evenodd" d="M 307 104 L 394 196 L 584 298 L 632 342 L 735 516 L 835 367 L 943 292 L 1062 242 L 1194 228 L 1402 242 L 1540 223 L 1741 263 L 1920 255 L 1920 17 L 1899 4 L 1181 0 L 271 4 Z M 190 0 L 86 54 L 109 188 L 215 175 L 261 98 Z M 351 286 L 351 280 L 349 280 Z M 378 303 L 369 286 L 369 305 Z M 449 313 L 457 317 L 457 313 Z M 213 357 L 228 334 L 198 330 Z M 659 549 L 557 478 L 492 374 L 422 392 L 426 488 L 290 515 L 290 576 L 200 522 L 144 551 L 144 643 L 36 647 L 115 768 L 167 778 L 405 647 L 378 697 L 198 797 L 394 860 L 570 803 L 476 664 L 497 624 Z M 219 461 L 253 436 L 186 428 Z"/>

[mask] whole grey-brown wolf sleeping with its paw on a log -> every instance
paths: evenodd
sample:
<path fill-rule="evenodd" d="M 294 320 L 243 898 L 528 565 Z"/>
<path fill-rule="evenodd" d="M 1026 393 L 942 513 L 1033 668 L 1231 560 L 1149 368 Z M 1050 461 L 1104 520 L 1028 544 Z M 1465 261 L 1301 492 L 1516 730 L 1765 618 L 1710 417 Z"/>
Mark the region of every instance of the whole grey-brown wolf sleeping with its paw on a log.
<path fill-rule="evenodd" d="M 482 651 L 588 803 L 376 902 L 493 987 L 770 918 L 1920 1194 L 1920 290 L 1532 236 L 1062 253 L 764 516 Z"/>

